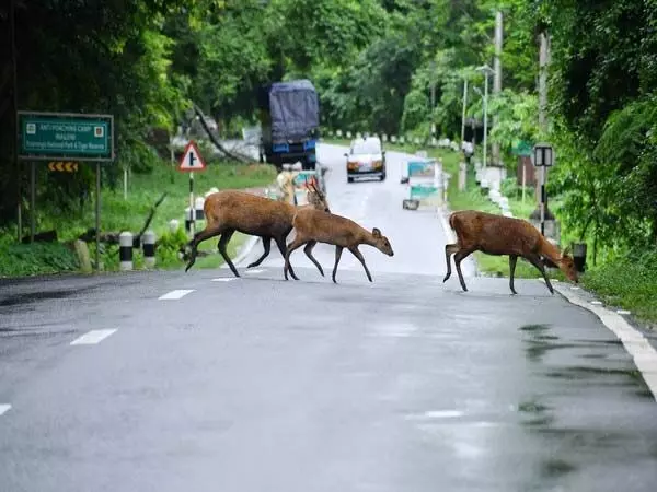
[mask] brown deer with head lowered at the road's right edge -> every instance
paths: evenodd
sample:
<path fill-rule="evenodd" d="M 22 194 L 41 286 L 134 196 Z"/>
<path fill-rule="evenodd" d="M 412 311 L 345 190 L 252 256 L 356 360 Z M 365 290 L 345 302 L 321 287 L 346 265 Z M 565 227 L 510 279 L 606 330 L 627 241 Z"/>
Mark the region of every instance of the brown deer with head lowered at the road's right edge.
<path fill-rule="evenodd" d="M 454 263 L 459 274 L 459 281 L 463 291 L 468 292 L 463 274 L 461 273 L 461 261 L 474 251 L 486 255 L 509 257 L 509 286 L 514 294 L 514 274 L 518 257 L 525 258 L 533 265 L 543 276 L 545 285 L 554 295 L 554 289 L 545 273 L 542 259 L 548 258 L 556 265 L 565 276 L 575 283 L 579 282 L 579 274 L 575 268 L 569 248 L 563 253 L 550 243 L 532 224 L 521 219 L 507 218 L 476 210 L 462 210 L 453 212 L 449 216 L 449 225 L 457 233 L 457 244 L 445 246 L 447 260 L 447 274 L 442 282 L 451 276 L 450 257 L 454 255 Z"/>

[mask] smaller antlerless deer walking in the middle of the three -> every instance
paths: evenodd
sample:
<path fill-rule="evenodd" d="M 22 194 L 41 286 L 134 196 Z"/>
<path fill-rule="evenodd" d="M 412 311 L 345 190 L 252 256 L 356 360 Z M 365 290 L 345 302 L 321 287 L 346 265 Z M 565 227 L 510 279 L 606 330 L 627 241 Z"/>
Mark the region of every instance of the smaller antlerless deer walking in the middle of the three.
<path fill-rule="evenodd" d="M 381 231 L 377 227 L 372 229 L 372 232 L 370 233 L 356 222 L 327 211 L 310 208 L 300 209 L 295 215 L 292 225 L 297 232 L 297 236 L 287 245 L 285 267 L 283 270 L 285 280 L 288 280 L 288 269 L 292 278 L 299 280 L 290 266 L 290 255 L 295 249 L 303 245 L 306 245 L 303 250 L 307 255 L 309 251 L 312 251 L 312 248 L 318 243 L 335 246 L 335 266 L 333 267 L 332 277 L 333 283 L 337 283 L 335 281 L 335 274 L 337 273 L 337 263 L 339 263 L 339 258 L 344 248 L 347 248 L 356 258 L 358 258 L 358 261 L 360 261 L 362 268 L 365 268 L 365 272 L 370 282 L 372 281 L 372 276 L 365 263 L 362 254 L 358 250 L 358 245 L 366 244 L 376 247 L 388 256 L 394 255 L 388 237 L 381 235 Z M 320 263 L 315 261 L 314 258 L 311 258 L 311 260 L 320 269 L 320 273 L 324 276 Z"/>

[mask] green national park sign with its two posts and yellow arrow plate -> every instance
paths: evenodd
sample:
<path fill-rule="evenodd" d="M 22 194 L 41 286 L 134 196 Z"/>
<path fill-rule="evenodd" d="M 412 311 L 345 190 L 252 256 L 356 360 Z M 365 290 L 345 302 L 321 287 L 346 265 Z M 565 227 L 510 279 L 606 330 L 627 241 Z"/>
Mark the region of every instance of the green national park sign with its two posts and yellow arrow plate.
<path fill-rule="evenodd" d="M 74 160 L 96 163 L 95 268 L 100 271 L 101 163 L 114 162 L 114 116 L 78 113 L 16 112 L 18 157 L 30 161 L 30 230 L 35 234 L 36 161 Z M 51 163 L 50 169 L 72 171 L 71 163 Z"/>

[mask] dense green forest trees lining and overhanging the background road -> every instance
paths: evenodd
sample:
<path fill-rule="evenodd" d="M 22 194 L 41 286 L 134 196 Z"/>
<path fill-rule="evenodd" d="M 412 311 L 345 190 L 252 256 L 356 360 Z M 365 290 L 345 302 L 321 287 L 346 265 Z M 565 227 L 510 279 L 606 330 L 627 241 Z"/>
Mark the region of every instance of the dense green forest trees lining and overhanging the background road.
<path fill-rule="evenodd" d="M 15 238 L 27 167 L 14 164 L 12 36 L 0 7 L 0 231 Z M 464 80 L 493 66 L 504 15 L 502 91 L 488 141 L 515 175 L 519 141 L 550 141 L 548 191 L 589 262 L 657 260 L 656 0 L 15 0 L 19 109 L 115 116 L 120 169 L 158 164 L 153 131 L 175 132 L 193 104 L 222 137 L 256 121 L 254 91 L 308 78 L 331 129 L 459 140 Z M 548 33 L 548 125 L 539 127 L 539 35 Z M 435 104 L 431 106 L 431 87 Z M 482 99 L 466 115 L 481 119 Z M 39 202 L 66 216 L 91 200 L 93 173 L 39 183 Z M 11 234 L 10 234 L 11 233 Z M 615 263 L 614 263 L 615 262 Z M 647 292 L 646 295 L 650 293 Z"/>

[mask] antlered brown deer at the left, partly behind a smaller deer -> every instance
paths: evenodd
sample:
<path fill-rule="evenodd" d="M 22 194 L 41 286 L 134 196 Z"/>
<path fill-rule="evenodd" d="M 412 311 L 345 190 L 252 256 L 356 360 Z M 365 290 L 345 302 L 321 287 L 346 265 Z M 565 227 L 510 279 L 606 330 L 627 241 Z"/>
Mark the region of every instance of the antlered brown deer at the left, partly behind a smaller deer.
<path fill-rule="evenodd" d="M 272 239 L 276 242 L 280 255 L 285 257 L 285 241 L 292 230 L 292 220 L 297 210 L 316 208 L 318 210 L 330 211 L 326 197 L 314 185 L 311 185 L 307 190 L 307 197 L 309 203 L 297 207 L 284 201 L 272 200 L 270 198 L 258 197 L 246 191 L 232 189 L 209 195 L 203 206 L 206 226 L 203 231 L 194 235 L 194 238 L 185 245 L 183 251 L 183 258 L 188 258 L 185 272 L 196 262 L 198 244 L 211 237 L 220 236 L 217 245 L 219 254 L 232 273 L 235 277 L 240 277 L 226 250 L 235 231 L 252 236 L 260 236 L 263 241 L 263 255 L 246 268 L 257 267 L 263 262 L 269 255 Z M 191 253 L 187 255 L 186 251 L 189 248 Z M 318 260 L 312 256 L 312 248 L 306 250 L 306 255 L 313 263 L 319 266 Z"/>

